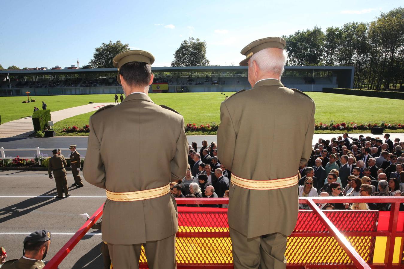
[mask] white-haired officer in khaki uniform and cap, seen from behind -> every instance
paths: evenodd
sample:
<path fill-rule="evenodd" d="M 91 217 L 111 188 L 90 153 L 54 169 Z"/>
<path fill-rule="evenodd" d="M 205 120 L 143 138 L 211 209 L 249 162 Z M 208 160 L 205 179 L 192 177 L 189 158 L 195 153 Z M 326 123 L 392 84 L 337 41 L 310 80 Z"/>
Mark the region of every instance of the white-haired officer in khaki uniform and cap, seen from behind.
<path fill-rule="evenodd" d="M 236 269 L 286 268 L 286 238 L 297 221 L 296 171 L 311 154 L 316 108 L 309 96 L 280 82 L 285 46 L 282 38 L 263 38 L 243 48 L 240 65 L 248 65 L 252 89 L 220 107 L 217 155 L 231 171 L 228 220 Z"/>

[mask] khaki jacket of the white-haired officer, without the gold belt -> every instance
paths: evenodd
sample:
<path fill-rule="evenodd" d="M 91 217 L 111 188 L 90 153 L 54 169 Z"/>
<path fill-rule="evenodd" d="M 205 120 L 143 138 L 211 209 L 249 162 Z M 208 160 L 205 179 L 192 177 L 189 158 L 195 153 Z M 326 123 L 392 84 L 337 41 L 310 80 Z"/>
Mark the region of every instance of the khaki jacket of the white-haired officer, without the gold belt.
<path fill-rule="evenodd" d="M 232 174 L 270 180 L 295 176 L 311 154 L 314 101 L 277 79 L 222 102 L 217 156 Z M 290 235 L 298 213 L 296 186 L 249 190 L 230 183 L 229 226 L 247 238 L 272 233 Z"/>

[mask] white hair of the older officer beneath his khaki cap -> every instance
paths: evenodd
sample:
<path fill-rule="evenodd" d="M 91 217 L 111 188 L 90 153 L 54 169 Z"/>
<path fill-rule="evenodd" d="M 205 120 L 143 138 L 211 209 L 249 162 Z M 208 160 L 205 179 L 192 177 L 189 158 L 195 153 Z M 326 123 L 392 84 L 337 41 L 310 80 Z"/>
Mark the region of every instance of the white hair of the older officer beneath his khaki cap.
<path fill-rule="evenodd" d="M 282 50 L 280 53 L 280 48 L 265 48 L 259 52 L 253 54 L 250 58 L 250 63 L 255 61 L 259 67 L 264 72 L 270 72 L 274 74 L 282 75 L 285 67 L 286 60 L 288 58 L 288 53 L 286 50 Z"/>

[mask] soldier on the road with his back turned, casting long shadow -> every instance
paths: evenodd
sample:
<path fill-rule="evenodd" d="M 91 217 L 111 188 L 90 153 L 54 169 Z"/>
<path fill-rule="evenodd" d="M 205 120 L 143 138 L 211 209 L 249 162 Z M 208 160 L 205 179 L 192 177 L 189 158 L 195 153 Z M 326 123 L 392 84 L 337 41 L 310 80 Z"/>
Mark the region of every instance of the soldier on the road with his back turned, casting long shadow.
<path fill-rule="evenodd" d="M 52 179 L 52 171 L 55 176 L 56 190 L 57 196 L 56 198 L 62 198 L 63 192 L 65 193 L 65 197 L 70 196 L 69 189 L 67 188 L 67 179 L 66 179 L 66 169 L 67 166 L 65 158 L 59 156 L 57 154 L 57 150 L 52 150 L 53 156 L 49 158 L 48 164 L 48 173 L 49 178 Z"/>

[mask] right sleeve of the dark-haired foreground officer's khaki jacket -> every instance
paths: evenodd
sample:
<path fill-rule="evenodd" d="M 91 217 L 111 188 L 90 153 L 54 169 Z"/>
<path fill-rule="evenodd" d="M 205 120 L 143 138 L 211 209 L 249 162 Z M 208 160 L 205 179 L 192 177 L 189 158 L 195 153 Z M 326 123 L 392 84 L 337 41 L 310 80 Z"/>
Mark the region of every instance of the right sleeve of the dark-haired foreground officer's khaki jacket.
<path fill-rule="evenodd" d="M 181 132 L 177 140 L 175 156 L 171 160 L 171 182 L 183 179 L 187 171 L 188 164 L 188 141 L 185 135 L 184 118 L 181 120 Z"/>

